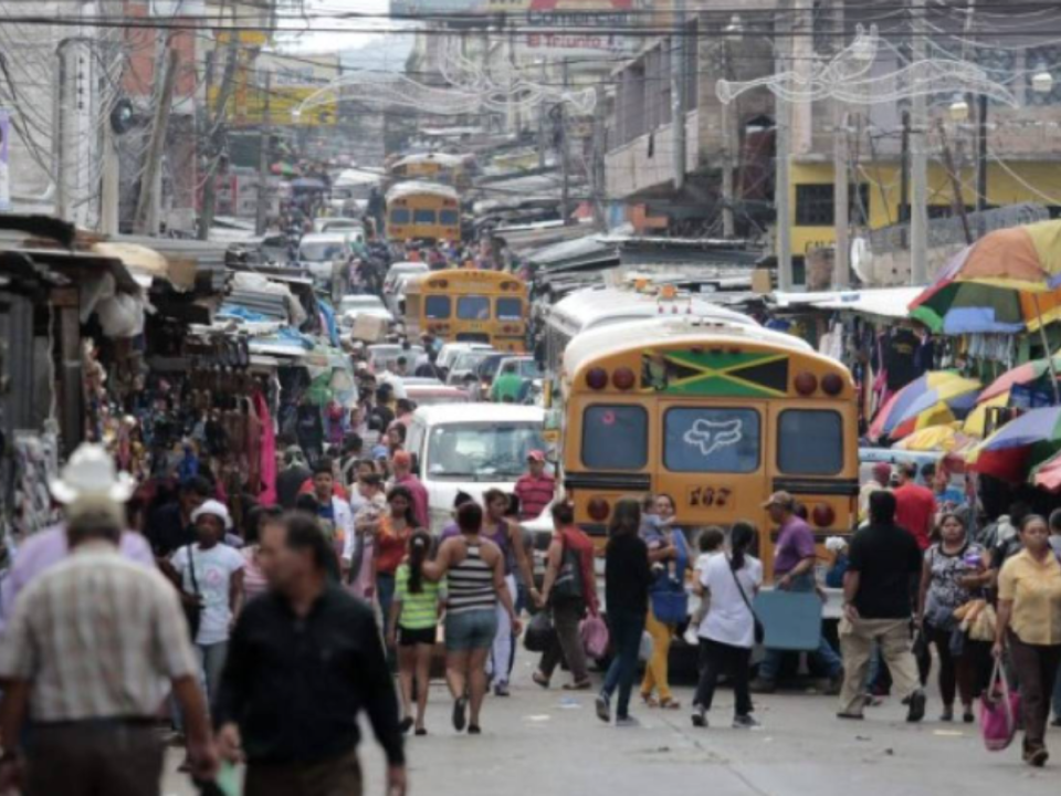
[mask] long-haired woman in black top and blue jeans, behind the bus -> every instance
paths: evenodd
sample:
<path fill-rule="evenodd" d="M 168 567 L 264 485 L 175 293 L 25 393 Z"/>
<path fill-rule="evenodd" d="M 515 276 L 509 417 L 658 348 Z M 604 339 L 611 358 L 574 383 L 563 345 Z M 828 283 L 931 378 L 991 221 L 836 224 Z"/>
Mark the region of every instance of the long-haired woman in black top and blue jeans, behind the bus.
<path fill-rule="evenodd" d="M 649 548 L 638 535 L 641 504 L 624 498 L 616 503 L 605 551 L 605 603 L 614 657 L 597 696 L 597 716 L 611 721 L 611 696 L 618 689 L 616 726 L 637 726 L 630 715 L 630 692 L 638 673 L 638 652 L 649 612 Z"/>

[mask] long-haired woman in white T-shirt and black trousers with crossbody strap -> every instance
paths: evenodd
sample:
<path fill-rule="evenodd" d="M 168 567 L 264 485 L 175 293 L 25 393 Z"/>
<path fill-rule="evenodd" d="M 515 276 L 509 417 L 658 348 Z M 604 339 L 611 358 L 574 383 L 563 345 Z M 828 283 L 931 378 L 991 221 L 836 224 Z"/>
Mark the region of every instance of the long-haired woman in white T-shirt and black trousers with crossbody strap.
<path fill-rule="evenodd" d="M 728 556 L 712 558 L 700 576 L 707 599 L 707 616 L 700 625 L 701 674 L 693 704 L 693 726 L 707 726 L 707 711 L 715 695 L 718 675 L 725 671 L 733 682 L 733 726 L 747 730 L 758 725 L 752 716 L 748 689 L 752 648 L 755 646 L 755 614 L 752 601 L 763 584 L 763 564 L 748 555 L 755 542 L 755 526 L 733 524 Z"/>

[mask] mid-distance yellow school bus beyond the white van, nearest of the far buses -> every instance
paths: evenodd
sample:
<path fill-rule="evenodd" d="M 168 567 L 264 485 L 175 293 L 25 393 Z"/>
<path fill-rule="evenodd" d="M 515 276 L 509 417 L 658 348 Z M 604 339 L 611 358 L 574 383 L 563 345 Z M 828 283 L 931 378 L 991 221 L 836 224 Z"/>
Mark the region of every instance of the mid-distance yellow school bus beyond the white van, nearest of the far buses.
<path fill-rule="evenodd" d="M 406 285 L 406 329 L 448 343 L 489 343 L 526 350 L 527 285 L 500 271 L 432 271 Z"/>

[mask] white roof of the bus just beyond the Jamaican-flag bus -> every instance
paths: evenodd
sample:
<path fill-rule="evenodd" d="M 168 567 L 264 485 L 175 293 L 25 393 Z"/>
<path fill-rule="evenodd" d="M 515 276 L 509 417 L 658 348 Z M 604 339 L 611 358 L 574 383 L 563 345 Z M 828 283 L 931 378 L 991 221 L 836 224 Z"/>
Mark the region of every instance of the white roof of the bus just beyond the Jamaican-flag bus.
<path fill-rule="evenodd" d="M 671 307 L 674 307 L 673 314 L 758 326 L 755 318 L 715 304 L 703 296 L 679 293 L 675 298 L 663 300 L 652 293 L 639 293 L 622 287 L 576 291 L 553 306 L 548 323 L 559 326 L 574 337 L 605 324 L 663 317 L 664 313 L 671 312 Z"/>

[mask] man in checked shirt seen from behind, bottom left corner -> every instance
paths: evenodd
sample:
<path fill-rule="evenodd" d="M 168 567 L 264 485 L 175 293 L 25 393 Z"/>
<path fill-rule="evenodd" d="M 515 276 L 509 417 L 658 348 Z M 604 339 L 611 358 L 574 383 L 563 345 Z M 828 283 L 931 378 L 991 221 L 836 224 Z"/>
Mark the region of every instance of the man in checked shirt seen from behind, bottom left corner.
<path fill-rule="evenodd" d="M 125 492 L 111 483 L 97 479 L 78 498 L 53 485 L 73 499 L 70 555 L 22 593 L 0 645 L 0 793 L 24 785 L 48 796 L 157 796 L 164 750 L 155 722 L 170 684 L 191 769 L 203 779 L 217 774 L 180 601 L 157 570 L 118 553 L 125 514 L 113 498 Z"/>

